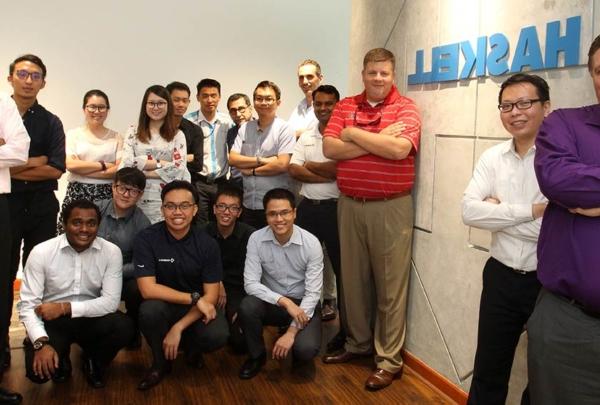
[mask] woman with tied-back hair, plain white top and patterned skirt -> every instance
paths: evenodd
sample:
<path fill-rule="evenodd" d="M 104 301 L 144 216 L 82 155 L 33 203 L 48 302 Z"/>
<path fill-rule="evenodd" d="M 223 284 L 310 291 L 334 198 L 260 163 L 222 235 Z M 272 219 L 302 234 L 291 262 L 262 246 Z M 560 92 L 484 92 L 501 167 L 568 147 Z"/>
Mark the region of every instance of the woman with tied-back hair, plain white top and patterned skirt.
<path fill-rule="evenodd" d="M 67 132 L 67 193 L 63 208 L 72 200 L 98 202 L 112 197 L 111 183 L 120 161 L 123 138 L 104 121 L 110 110 L 108 96 L 102 90 L 90 90 L 83 96 L 85 125 Z M 58 230 L 61 233 L 61 222 Z"/>

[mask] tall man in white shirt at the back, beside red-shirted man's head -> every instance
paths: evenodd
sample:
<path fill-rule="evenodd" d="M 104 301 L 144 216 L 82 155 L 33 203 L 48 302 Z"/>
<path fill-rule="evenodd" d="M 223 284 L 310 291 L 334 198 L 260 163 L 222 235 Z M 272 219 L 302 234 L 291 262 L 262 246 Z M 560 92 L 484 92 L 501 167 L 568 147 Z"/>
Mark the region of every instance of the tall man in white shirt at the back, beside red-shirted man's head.
<path fill-rule="evenodd" d="M 298 65 L 298 87 L 304 93 L 304 98 L 294 108 L 288 121 L 289 126 L 295 131 L 296 138 L 319 124 L 314 114 L 312 93 L 322 81 L 323 74 L 317 61 L 306 59 Z"/>

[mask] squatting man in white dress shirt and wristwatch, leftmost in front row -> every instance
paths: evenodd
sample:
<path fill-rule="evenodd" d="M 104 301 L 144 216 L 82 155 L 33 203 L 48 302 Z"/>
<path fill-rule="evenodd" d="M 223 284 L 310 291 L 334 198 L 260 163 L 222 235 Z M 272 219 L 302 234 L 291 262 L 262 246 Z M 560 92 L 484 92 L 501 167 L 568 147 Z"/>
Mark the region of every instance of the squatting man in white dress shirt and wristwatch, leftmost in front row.
<path fill-rule="evenodd" d="M 106 367 L 133 338 L 133 322 L 117 311 L 121 251 L 96 237 L 100 218 L 94 203 L 71 202 L 63 210 L 65 233 L 33 248 L 25 265 L 19 319 L 28 337 L 26 375 L 35 383 L 65 381 L 77 343 L 88 384 L 102 388 Z"/>

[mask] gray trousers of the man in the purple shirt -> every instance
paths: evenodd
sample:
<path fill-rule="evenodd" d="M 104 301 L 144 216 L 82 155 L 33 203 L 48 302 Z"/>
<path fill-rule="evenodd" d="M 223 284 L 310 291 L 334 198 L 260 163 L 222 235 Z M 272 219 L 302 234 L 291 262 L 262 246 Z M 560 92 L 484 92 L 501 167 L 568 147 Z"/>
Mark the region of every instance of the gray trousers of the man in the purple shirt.
<path fill-rule="evenodd" d="M 542 288 L 527 331 L 531 404 L 600 404 L 600 319 Z"/>

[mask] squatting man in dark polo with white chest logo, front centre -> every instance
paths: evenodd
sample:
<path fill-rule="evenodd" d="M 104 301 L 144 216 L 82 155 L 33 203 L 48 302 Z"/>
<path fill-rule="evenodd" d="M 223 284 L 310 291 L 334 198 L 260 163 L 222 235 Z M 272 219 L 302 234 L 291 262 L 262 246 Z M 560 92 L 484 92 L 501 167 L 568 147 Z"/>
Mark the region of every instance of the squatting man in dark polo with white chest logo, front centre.
<path fill-rule="evenodd" d="M 228 337 L 227 321 L 215 308 L 223 277 L 219 246 L 193 225 L 196 190 L 187 181 L 172 181 L 161 199 L 165 220 L 141 231 L 133 247 L 145 300 L 139 324 L 153 357 L 140 390 L 155 386 L 170 371 L 180 341 L 188 365 L 202 367 L 202 352 L 223 346 Z"/>

